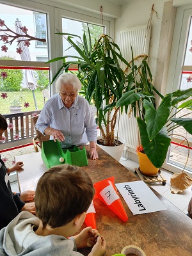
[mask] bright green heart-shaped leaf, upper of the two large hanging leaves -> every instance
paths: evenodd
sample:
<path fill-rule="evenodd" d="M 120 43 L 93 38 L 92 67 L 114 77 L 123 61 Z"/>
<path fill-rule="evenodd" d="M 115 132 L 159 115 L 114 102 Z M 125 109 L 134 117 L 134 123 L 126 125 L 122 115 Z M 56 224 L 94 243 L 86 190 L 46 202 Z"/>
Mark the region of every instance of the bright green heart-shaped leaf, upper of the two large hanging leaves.
<path fill-rule="evenodd" d="M 149 140 L 153 140 L 157 133 L 168 122 L 172 102 L 172 95 L 163 98 L 159 108 L 156 110 L 151 102 L 144 100 L 143 106 L 146 109 L 145 122 Z"/>

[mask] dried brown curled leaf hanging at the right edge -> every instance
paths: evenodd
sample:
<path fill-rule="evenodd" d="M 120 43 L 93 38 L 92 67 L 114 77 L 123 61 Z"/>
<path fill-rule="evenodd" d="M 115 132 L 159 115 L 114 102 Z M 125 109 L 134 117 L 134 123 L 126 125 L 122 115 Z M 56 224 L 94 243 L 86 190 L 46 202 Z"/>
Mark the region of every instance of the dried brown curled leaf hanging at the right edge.
<path fill-rule="evenodd" d="M 189 177 L 186 173 L 174 173 L 170 179 L 171 181 L 171 191 L 173 194 L 182 192 L 185 189 L 189 188 L 192 184 L 192 178 Z"/>

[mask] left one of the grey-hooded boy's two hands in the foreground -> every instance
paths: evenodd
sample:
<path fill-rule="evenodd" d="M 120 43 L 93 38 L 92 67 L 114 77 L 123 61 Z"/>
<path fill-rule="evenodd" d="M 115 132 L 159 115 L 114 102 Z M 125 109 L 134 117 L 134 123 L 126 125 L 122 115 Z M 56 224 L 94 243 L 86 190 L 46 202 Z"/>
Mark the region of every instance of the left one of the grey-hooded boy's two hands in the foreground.
<path fill-rule="evenodd" d="M 93 246 L 97 242 L 99 232 L 92 227 L 84 228 L 78 235 L 74 236 L 77 248 Z"/>

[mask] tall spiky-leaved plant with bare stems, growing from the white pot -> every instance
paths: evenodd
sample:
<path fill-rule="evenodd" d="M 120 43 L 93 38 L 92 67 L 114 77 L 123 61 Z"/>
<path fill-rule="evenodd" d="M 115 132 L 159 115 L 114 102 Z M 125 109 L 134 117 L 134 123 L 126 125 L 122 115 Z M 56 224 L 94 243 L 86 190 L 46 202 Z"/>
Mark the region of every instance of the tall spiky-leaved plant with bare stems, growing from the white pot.
<path fill-rule="evenodd" d="M 83 84 L 85 98 L 88 102 L 93 102 L 97 108 L 97 124 L 102 135 L 102 144 L 104 146 L 119 145 L 119 138 L 115 138 L 115 125 L 116 116 L 120 113 L 121 108 L 116 107 L 116 102 L 125 92 L 132 90 L 134 70 L 122 57 L 118 45 L 108 35 L 101 35 L 92 45 L 90 33 L 88 33 L 88 40 L 85 34 L 83 40 L 77 35 L 57 34 L 67 36 L 67 40 L 71 47 L 76 50 L 77 56 L 63 56 L 48 61 L 63 60 L 63 65 L 59 68 L 52 82 L 63 68 L 67 71 L 70 65 L 77 64 L 79 67 L 77 76 Z M 81 47 L 77 44 L 76 37 L 80 38 Z M 67 61 L 68 58 L 72 58 L 73 61 Z M 143 56 L 143 58 L 147 58 L 147 56 Z M 122 70 L 120 67 L 122 64 L 131 68 L 129 74 L 126 70 Z M 143 97 L 147 97 L 147 93 Z"/>

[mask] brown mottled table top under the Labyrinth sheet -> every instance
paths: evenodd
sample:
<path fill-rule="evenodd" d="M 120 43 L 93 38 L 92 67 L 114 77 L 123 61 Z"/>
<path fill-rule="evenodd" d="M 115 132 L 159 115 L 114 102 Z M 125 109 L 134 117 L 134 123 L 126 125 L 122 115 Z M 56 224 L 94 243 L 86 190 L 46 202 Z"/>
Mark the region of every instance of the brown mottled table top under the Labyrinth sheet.
<path fill-rule="evenodd" d="M 134 173 L 101 148 L 97 147 L 97 152 L 99 159 L 93 161 L 88 157 L 88 166 L 83 167 L 93 183 L 111 176 L 115 176 L 115 183 L 138 180 Z M 15 159 L 24 162 L 24 171 L 17 173 L 21 191 L 35 189 L 37 180 L 46 171 L 40 153 L 17 156 Z M 94 200 L 97 229 L 106 238 L 107 256 L 120 253 L 130 244 L 140 247 L 146 256 L 192 255 L 192 220 L 159 193 L 154 193 L 168 210 L 132 215 L 119 195 L 129 217 L 127 222 L 118 218 L 99 199 Z M 90 249 L 81 252 L 87 255 Z"/>

